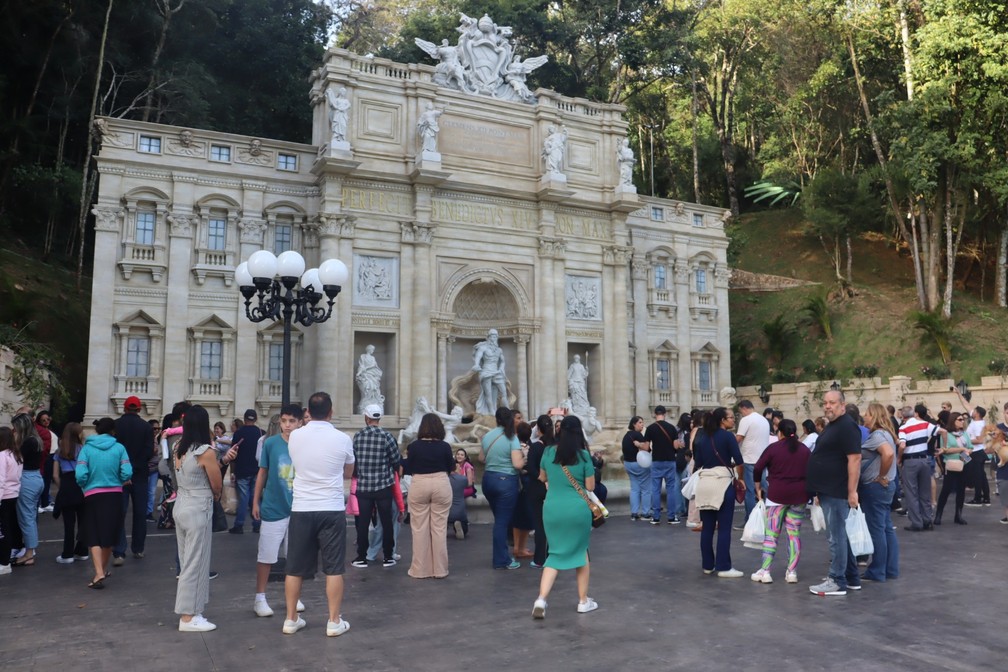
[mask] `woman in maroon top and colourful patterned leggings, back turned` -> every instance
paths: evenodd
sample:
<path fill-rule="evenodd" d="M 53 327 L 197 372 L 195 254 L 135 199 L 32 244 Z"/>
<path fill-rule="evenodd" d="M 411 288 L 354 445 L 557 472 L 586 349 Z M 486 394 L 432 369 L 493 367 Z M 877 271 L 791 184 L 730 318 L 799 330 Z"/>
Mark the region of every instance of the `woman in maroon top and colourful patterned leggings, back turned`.
<path fill-rule="evenodd" d="M 767 446 L 753 467 L 756 500 L 763 499 L 763 469 L 769 487 L 766 496 L 766 531 L 763 536 L 763 562 L 750 578 L 760 583 L 773 583 L 770 563 L 777 552 L 780 530 L 787 535 L 787 571 L 784 580 L 798 582 L 798 560 L 801 557 L 801 521 L 805 517 L 808 492 L 805 472 L 811 450 L 798 440 L 798 428 L 793 420 L 781 420 L 777 425 L 777 440 Z"/>

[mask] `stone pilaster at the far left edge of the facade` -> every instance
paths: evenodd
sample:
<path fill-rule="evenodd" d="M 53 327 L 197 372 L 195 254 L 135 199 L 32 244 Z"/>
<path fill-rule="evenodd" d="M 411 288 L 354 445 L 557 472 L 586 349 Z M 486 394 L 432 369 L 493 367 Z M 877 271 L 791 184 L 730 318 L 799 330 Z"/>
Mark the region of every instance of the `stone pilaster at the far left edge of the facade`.
<path fill-rule="evenodd" d="M 105 263 L 95 264 L 91 282 L 92 305 L 101 306 L 101 309 L 91 311 L 86 423 L 118 410 L 110 403 L 112 377 L 120 370 L 120 363 L 112 360 L 112 320 L 115 315 L 115 262 L 121 254 L 119 239 L 126 214 L 113 205 L 98 205 L 92 213 L 95 215 L 95 259 L 103 259 Z M 125 360 L 121 364 L 125 369 Z M 103 375 L 96 375 L 97 372 Z"/>

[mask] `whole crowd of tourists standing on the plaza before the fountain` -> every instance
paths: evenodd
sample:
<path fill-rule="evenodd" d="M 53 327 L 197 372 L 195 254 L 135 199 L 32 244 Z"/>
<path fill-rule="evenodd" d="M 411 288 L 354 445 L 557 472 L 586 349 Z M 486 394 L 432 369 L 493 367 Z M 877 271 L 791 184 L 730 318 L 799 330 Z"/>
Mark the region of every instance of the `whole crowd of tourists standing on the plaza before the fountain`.
<path fill-rule="evenodd" d="M 761 583 L 773 581 L 783 535 L 784 580 L 796 583 L 801 529 L 810 517 L 826 528 L 830 547 L 828 576 L 809 586 L 812 593 L 843 595 L 864 581 L 894 579 L 899 544 L 892 514 L 907 516 L 907 531 L 933 530 L 953 498 L 953 522 L 965 525 L 964 507 L 991 503 L 987 464 L 997 466 L 995 495 L 1005 506 L 1001 522 L 1008 524 L 1008 484 L 1000 483 L 1008 481 L 1008 425 L 988 422 L 984 408 L 961 402 L 964 412 L 942 404 L 936 419 L 922 405 L 897 413 L 872 403 L 862 415 L 831 390 L 823 416 L 805 420 L 800 430 L 779 411 L 756 412 L 748 400 L 737 405 L 738 418 L 736 409 L 720 407 L 683 414 L 674 424 L 657 406 L 646 428 L 643 418 L 632 417 L 622 441 L 630 519 L 661 525 L 664 513 L 667 524 L 684 521 L 700 533 L 703 572 L 721 578 L 744 576 L 731 558 L 733 532 L 743 530 L 762 550 L 750 574 Z M 140 400 L 129 397 L 121 417 L 96 421 L 87 438 L 76 422 L 56 436 L 47 411 L 18 412 L 11 426 L 0 427 L 0 575 L 36 564 L 38 516 L 51 514 L 62 519 L 65 530 L 55 561 L 90 560 L 94 575 L 87 585 L 103 589 L 112 568 L 124 563 L 127 528 L 129 550 L 139 560 L 146 526 L 156 520 L 175 532 L 178 630 L 209 632 L 216 628 L 204 616 L 216 576 L 212 534 L 242 534 L 248 518 L 258 533 L 254 613 L 273 615 L 266 583 L 285 557 L 282 632 L 303 629 L 301 583 L 314 576 L 321 560 L 326 634 L 336 637 L 350 629 L 341 611 L 348 516 L 356 533 L 352 567 L 394 567 L 402 559 L 400 526 L 407 524 L 407 574 L 417 579 L 447 577 L 450 530 L 458 539 L 469 535 L 467 500 L 476 497 L 476 469 L 465 449 L 453 451 L 446 442 L 435 413 L 422 417 L 416 439 L 403 451 L 381 427 L 381 406 L 364 409 L 365 426 L 351 437 L 332 423 L 325 392 L 312 395 L 306 408 L 281 408 L 267 431 L 257 425 L 254 409 L 230 430 L 221 422 L 212 428 L 207 410 L 187 402 L 175 404 L 161 422 L 144 420 L 140 409 Z M 484 465 L 479 487 L 494 518 L 493 568 L 518 569 L 527 559 L 541 570 L 534 619 L 545 617 L 563 569 L 575 570 L 577 612 L 595 611 L 589 544 L 598 507 L 592 503 L 604 504 L 606 491 L 601 459 L 590 452 L 581 420 L 540 415 L 529 424 L 517 410 L 501 407 L 495 421 L 478 455 Z M 220 502 L 229 469 L 237 500 L 230 526 Z M 158 483 L 162 495 L 155 506 Z M 51 499 L 50 484 L 56 487 Z M 746 517 L 739 524 L 737 505 L 744 505 Z M 848 544 L 852 510 L 864 515 L 870 557 L 856 557 Z"/>

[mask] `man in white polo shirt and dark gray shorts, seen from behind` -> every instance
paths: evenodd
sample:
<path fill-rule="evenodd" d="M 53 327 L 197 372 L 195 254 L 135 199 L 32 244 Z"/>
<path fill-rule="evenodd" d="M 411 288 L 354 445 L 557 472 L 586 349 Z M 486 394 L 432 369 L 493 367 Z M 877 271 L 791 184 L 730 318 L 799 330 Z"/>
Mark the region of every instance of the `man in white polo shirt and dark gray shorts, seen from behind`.
<path fill-rule="evenodd" d="M 354 444 L 333 426 L 333 399 L 316 392 L 308 399 L 311 421 L 290 433 L 287 450 L 294 467 L 294 493 L 287 527 L 287 565 L 284 593 L 287 618 L 284 635 L 293 635 L 305 623 L 297 614 L 301 583 L 314 576 L 322 551 L 329 599 L 328 637 L 339 637 L 350 624 L 343 620 L 343 572 L 347 549 L 347 514 L 343 481 L 354 474 Z"/>

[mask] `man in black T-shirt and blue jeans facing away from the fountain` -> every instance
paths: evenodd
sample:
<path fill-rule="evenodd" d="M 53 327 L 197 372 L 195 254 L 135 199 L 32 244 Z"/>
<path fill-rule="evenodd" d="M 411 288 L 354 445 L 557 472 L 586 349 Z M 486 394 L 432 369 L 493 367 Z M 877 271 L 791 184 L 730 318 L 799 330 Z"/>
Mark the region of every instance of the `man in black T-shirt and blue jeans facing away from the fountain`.
<path fill-rule="evenodd" d="M 830 535 L 830 575 L 808 588 L 821 596 L 861 589 L 858 563 L 847 543 L 847 516 L 859 504 L 861 430 L 847 414 L 844 401 L 844 393 L 838 390 L 823 397 L 827 425 L 815 441 L 805 478 L 808 492 L 818 497 Z"/>

